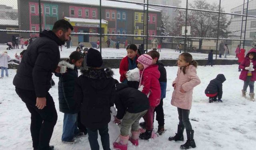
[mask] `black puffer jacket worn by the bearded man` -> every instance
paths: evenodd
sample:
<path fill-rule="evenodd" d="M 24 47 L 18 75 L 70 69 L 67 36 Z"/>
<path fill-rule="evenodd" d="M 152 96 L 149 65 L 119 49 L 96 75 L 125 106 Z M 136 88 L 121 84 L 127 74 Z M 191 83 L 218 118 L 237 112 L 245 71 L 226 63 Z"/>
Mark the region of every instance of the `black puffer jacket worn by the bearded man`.
<path fill-rule="evenodd" d="M 35 90 L 36 97 L 46 97 L 50 80 L 60 61 L 58 46 L 63 42 L 52 31 L 44 30 L 23 54 L 13 85 L 24 90 Z"/>

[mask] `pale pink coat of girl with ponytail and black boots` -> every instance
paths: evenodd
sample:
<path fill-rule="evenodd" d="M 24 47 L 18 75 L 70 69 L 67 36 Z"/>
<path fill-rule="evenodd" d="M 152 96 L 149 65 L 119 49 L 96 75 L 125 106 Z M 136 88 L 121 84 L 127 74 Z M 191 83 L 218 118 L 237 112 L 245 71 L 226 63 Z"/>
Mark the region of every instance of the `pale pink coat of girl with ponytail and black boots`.
<path fill-rule="evenodd" d="M 193 88 L 200 84 L 201 81 L 196 75 L 196 67 L 193 65 L 187 67 L 186 74 L 183 74 L 182 69 L 178 69 L 177 77 L 172 83 L 172 86 L 176 84 L 176 88 L 172 92 L 171 104 L 178 108 L 190 110 L 192 105 Z M 180 88 L 182 88 L 185 93 L 180 92 Z"/>

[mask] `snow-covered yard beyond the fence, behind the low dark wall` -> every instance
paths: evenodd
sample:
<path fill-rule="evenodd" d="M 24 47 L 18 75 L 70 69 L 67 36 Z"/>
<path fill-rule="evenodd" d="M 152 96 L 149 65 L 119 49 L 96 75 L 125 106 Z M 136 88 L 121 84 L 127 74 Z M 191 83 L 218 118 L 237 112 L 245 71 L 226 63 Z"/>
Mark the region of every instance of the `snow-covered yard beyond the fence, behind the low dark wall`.
<path fill-rule="evenodd" d="M 11 49 L 11 50 L 6 50 L 8 46 L 7 45 L 0 45 L 0 52 L 4 52 L 7 51 L 9 56 L 11 58 L 15 58 L 14 55 L 15 53 L 17 53 L 18 55 L 20 54 L 20 52 L 22 52 L 23 49 Z M 19 48 L 21 46 L 19 45 Z M 26 46 L 24 46 L 26 49 Z M 62 51 L 60 51 L 60 58 L 68 58 L 68 56 L 71 54 L 71 52 L 75 51 L 76 47 L 70 47 L 70 48 L 66 48 L 66 47 L 62 47 Z M 98 49 L 99 50 L 99 49 Z M 150 50 L 148 50 L 150 51 Z M 175 52 L 174 49 L 169 49 L 169 48 L 162 48 L 161 52 L 160 52 L 160 60 L 161 59 L 177 59 L 179 56 L 179 52 Z M 208 54 L 202 54 L 202 53 L 191 53 L 193 56 L 193 59 L 195 60 L 199 60 L 199 59 L 207 59 L 208 58 Z M 124 58 L 124 56 L 127 55 L 126 49 L 125 48 L 120 48 L 120 49 L 116 49 L 116 48 L 102 48 L 102 58 L 104 59 L 109 59 L 109 58 Z M 215 54 L 214 54 L 214 59 L 215 59 Z M 228 59 L 228 60 L 237 60 L 237 58 L 235 58 L 234 55 L 230 55 L 227 56 L 228 58 L 224 58 L 224 56 L 222 58 L 219 58 L 217 56 L 217 59 Z"/>

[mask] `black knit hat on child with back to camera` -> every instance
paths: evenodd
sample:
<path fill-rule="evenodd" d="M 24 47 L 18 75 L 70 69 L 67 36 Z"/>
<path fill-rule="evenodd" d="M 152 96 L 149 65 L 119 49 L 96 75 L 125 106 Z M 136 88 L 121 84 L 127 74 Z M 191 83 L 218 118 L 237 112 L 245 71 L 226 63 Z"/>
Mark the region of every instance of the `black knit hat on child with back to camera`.
<path fill-rule="evenodd" d="M 86 63 L 88 67 L 100 67 L 103 60 L 100 52 L 93 48 L 90 48 L 87 53 Z"/>

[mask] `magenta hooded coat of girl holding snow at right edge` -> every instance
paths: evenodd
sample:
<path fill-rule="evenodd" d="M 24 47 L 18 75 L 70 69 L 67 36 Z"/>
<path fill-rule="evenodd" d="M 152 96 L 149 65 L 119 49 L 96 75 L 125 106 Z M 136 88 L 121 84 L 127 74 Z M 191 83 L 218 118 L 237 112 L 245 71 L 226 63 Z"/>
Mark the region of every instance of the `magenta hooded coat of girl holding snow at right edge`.
<path fill-rule="evenodd" d="M 249 70 L 246 70 L 245 67 L 250 66 L 250 59 L 249 59 L 249 53 L 250 52 L 256 52 L 256 50 L 254 48 L 252 48 L 247 54 L 246 57 L 244 58 L 244 60 L 241 62 L 241 64 L 239 65 L 239 68 L 242 69 L 242 72 L 239 76 L 240 80 L 246 81 L 247 78 L 247 73 Z M 255 69 L 254 71 L 252 71 L 252 78 L 251 81 L 256 81 L 256 60 L 252 60 L 252 64 L 253 64 L 253 68 Z"/>

